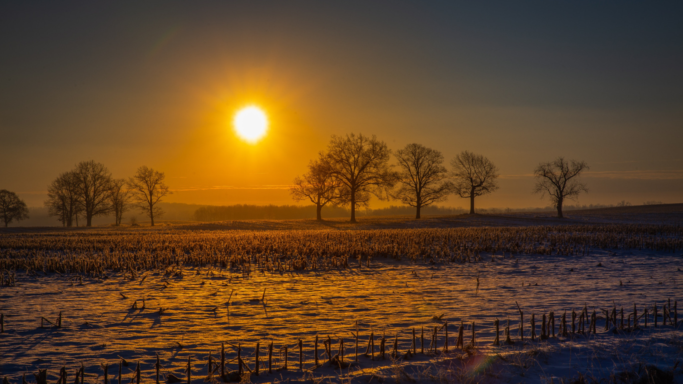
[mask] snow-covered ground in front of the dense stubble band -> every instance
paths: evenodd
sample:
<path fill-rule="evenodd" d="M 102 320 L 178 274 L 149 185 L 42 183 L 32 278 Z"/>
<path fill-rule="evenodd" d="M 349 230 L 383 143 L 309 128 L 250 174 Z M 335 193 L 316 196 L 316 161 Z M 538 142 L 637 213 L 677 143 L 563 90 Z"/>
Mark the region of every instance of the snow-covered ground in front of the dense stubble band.
<path fill-rule="evenodd" d="M 508 254 L 504 259 L 496 255 L 485 260 L 430 266 L 382 259 L 374 260 L 378 264 L 372 269 L 352 266 L 324 273 L 255 273 L 249 278 L 215 269 L 185 269 L 183 277 L 166 280 L 154 271 L 141 272 L 133 281 L 109 273 L 108 279 L 83 279 L 82 285 L 70 283 L 66 275 L 28 276 L 19 271 L 16 286 L 0 288 L 0 312 L 6 316 L 5 333 L 0 334 L 0 375 L 8 376 L 11 383 L 20 383 L 23 372 L 47 368 L 48 382 L 54 383 L 61 366 L 67 366 L 73 379 L 75 368 L 83 363 L 85 381 L 94 383 L 102 380 L 100 363 L 108 363 L 109 379 L 117 382 L 120 356 L 130 362 L 122 369 L 124 383 L 131 381 L 138 361 L 143 382 L 152 383 L 158 353 L 161 372 L 183 380 L 191 356 L 193 381 L 199 383 L 206 376 L 209 353 L 215 358 L 221 342 L 241 343 L 242 356 L 253 368 L 256 342 L 260 342 L 263 361 L 272 340 L 275 367 L 282 363 L 279 348 L 290 346 L 290 369 L 264 374 L 262 368 L 260 376 L 251 376 L 253 382 L 560 383 L 580 379 L 580 375 L 590 382 L 609 379 L 619 372 L 652 370 L 652 366 L 675 372 L 673 380 L 683 382 L 680 329 L 667 325 L 616 334 L 602 330 L 604 317 L 600 312 L 600 308 L 615 304 L 617 309 L 623 305 L 628 313 L 636 303 L 639 313 L 645 305 L 652 313 L 655 301 L 660 311 L 666 299 L 672 304 L 680 302 L 680 252 L 593 249 L 590 256 L 583 257 L 531 255 L 511 259 Z M 262 297 L 264 288 L 264 302 L 250 301 Z M 137 309 L 131 310 L 134 301 Z M 491 346 L 494 318 L 501 319 L 501 333 L 510 318 L 512 337 L 518 339 L 515 302 L 525 313 L 527 336 L 531 313 L 540 333 L 543 312 L 554 310 L 557 318 L 564 310 L 579 312 L 584 304 L 589 312 L 598 312 L 598 334 L 543 342 L 527 340 L 524 346 L 520 342 Z M 158 314 L 160 307 L 168 308 L 163 315 Z M 40 328 L 40 316 L 54 322 L 60 311 L 63 327 Z M 442 314 L 441 320 L 433 319 Z M 679 321 L 682 318 L 680 315 Z M 324 351 L 322 338 L 329 335 L 333 349 L 337 348 L 337 338 L 344 338 L 345 358 L 354 358 L 356 320 L 361 353 L 370 331 L 376 338 L 386 334 L 388 351 L 398 334 L 399 351 L 404 353 L 412 342 L 413 327 L 418 336 L 425 327 L 427 348 L 428 329 L 433 332 L 434 325 L 442 325 L 443 320 L 449 322 L 451 351 L 460 321 L 466 323 L 465 342 L 471 338 L 474 321 L 476 348 L 469 355 L 458 350 L 436 355 L 418 353 L 408 361 L 361 357 L 360 364 L 342 370 L 328 364 L 313 369 L 316 333 L 321 338 L 320 355 Z M 298 348 L 294 348 L 298 338 L 303 340 L 305 372 L 298 370 Z M 444 341 L 441 331 L 440 349 Z M 378 340 L 375 344 L 378 350 Z M 236 357 L 235 348 L 229 344 L 226 351 L 227 360 Z M 235 369 L 235 363 L 229 364 L 229 370 Z M 27 375 L 27 379 L 33 381 L 33 376 Z"/>

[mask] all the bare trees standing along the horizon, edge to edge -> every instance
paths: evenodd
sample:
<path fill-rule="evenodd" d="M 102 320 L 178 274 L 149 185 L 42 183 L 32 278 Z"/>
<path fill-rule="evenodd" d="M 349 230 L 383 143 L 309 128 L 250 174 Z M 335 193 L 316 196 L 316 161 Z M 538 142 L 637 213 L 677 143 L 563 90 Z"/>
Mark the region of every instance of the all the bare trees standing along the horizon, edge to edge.
<path fill-rule="evenodd" d="M 389 163 L 392 155 L 397 164 Z M 443 162 L 441 152 L 418 143 L 392 152 L 375 135 L 333 135 L 326 151 L 309 162 L 308 172 L 294 178 L 290 193 L 296 201 L 310 200 L 315 204 L 318 220 L 322 220 L 324 206 L 348 206 L 350 221 L 355 222 L 357 208 L 369 206 L 372 195 L 415 208 L 415 218 L 419 219 L 423 208 L 443 202 L 451 194 L 468 198 L 469 213 L 474 214 L 475 197 L 499 189 L 499 169 L 482 154 L 464 150 L 451 159 L 450 170 Z M 576 200 L 581 192 L 588 191 L 579 180 L 587 169 L 585 161 L 568 161 L 561 156 L 540 163 L 533 170 L 533 193 L 548 196 L 561 218 L 564 202 Z M 115 225 L 120 225 L 124 212 L 133 207 L 154 225 L 154 219 L 164 213 L 156 204 L 172 193 L 164 179 L 163 172 L 144 165 L 127 179 L 113 178 L 102 163 L 81 161 L 51 182 L 44 205 L 48 215 L 68 227 L 78 225 L 79 217 L 91 226 L 93 217 L 108 215 L 113 215 Z M 209 217 L 218 212 L 200 213 Z M 27 219 L 25 202 L 16 193 L 0 190 L 0 217 L 5 227 L 12 221 Z"/>

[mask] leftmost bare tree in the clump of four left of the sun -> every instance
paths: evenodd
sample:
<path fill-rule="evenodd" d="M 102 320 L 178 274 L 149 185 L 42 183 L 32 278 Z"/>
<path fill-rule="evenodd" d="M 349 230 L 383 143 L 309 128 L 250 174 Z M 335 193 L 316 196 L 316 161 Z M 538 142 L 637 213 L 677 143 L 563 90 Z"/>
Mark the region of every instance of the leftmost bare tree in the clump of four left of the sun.
<path fill-rule="evenodd" d="M 66 227 L 73 225 L 74 217 L 81 213 L 77 182 L 74 172 L 64 172 L 47 187 L 44 205 L 48 215 L 57 216 Z"/>

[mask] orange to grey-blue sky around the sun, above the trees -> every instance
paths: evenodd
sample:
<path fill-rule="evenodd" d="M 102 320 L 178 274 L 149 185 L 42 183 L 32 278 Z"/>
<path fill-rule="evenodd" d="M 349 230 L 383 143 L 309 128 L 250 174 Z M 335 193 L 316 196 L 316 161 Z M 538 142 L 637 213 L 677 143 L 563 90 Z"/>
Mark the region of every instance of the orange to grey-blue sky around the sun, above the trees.
<path fill-rule="evenodd" d="M 168 202 L 294 204 L 331 135 L 462 150 L 477 206 L 545 206 L 533 168 L 583 160 L 580 204 L 683 201 L 683 3 L 0 3 L 0 189 L 42 206 L 79 161 L 165 172 Z M 236 136 L 247 105 L 268 115 Z M 377 202 L 379 207 L 397 202 Z M 451 197 L 447 206 L 468 206 Z"/>

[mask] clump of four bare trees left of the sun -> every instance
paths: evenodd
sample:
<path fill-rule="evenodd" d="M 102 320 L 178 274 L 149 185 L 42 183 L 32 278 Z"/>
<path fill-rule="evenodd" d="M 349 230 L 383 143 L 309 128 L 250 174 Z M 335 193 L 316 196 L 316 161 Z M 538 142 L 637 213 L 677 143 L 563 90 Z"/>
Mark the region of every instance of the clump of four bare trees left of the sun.
<path fill-rule="evenodd" d="M 102 163 L 81 161 L 51 182 L 44 205 L 48 215 L 57 217 L 65 227 L 78 226 L 79 217 L 89 227 L 93 217 L 109 215 L 120 225 L 130 208 L 139 208 L 154 225 L 154 219 L 164 213 L 157 203 L 173 193 L 164 178 L 163 172 L 145 165 L 127 179 L 114 178 Z"/>

